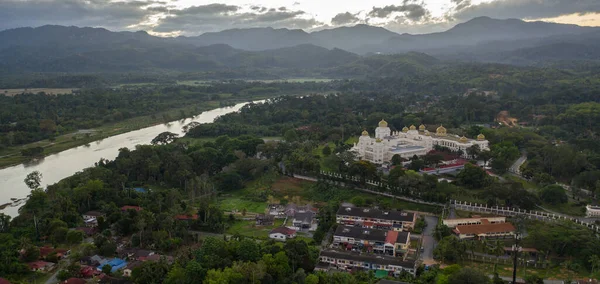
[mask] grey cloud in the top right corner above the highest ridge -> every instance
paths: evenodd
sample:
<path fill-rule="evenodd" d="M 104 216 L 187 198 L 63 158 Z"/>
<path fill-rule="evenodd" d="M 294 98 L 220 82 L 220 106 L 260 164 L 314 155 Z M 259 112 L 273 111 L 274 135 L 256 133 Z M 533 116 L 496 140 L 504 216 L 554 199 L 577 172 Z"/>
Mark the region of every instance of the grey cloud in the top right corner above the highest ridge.
<path fill-rule="evenodd" d="M 453 0 L 453 2 L 461 1 Z M 461 5 L 461 3 L 457 4 Z M 597 11 L 600 11 L 598 0 L 494 0 L 464 7 L 453 17 L 461 21 L 479 16 L 499 19 L 538 19 Z"/>

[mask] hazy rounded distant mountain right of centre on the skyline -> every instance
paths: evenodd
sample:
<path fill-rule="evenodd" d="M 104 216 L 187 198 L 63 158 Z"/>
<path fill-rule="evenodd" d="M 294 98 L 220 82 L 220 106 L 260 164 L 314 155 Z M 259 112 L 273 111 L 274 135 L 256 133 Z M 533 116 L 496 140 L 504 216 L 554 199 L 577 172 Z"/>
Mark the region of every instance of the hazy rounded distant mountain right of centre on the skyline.
<path fill-rule="evenodd" d="M 380 27 L 356 25 L 313 32 L 311 36 L 318 45 L 355 51 L 382 44 L 398 34 Z"/>

